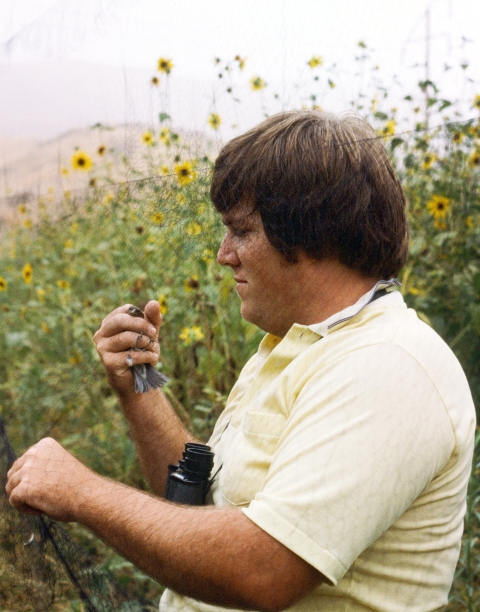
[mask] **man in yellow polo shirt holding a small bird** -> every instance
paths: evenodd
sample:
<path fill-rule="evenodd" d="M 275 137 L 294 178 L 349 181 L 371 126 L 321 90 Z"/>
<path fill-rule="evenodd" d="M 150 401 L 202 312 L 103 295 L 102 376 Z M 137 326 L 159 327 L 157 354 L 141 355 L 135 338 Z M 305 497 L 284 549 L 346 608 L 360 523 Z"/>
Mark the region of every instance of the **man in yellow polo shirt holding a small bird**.
<path fill-rule="evenodd" d="M 379 139 L 352 117 L 276 115 L 222 150 L 211 194 L 226 226 L 218 261 L 233 270 L 242 316 L 267 332 L 210 441 L 213 504 L 109 481 L 51 439 L 12 467 L 10 502 L 95 531 L 169 587 L 161 610 L 440 608 L 460 550 L 474 407 L 448 347 L 385 291 L 408 231 Z M 128 306 L 95 341 L 162 496 L 192 438 L 160 391 L 134 393 L 128 366 L 157 363 L 161 316 L 156 302 L 145 320 Z M 147 351 L 127 359 L 139 334 Z"/>

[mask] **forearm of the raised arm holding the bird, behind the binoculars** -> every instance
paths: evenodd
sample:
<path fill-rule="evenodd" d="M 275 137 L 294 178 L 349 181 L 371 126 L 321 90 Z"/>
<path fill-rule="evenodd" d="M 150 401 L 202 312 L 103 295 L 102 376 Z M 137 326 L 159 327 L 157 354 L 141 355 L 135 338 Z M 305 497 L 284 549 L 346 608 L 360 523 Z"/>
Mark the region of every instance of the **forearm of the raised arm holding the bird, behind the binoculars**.
<path fill-rule="evenodd" d="M 194 438 L 160 390 L 132 392 L 119 399 L 142 471 L 152 491 L 163 496 L 168 465 L 178 462 L 185 442 Z"/>

